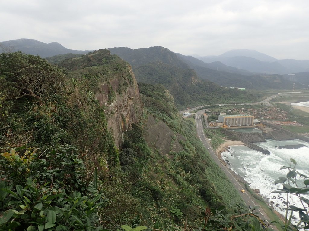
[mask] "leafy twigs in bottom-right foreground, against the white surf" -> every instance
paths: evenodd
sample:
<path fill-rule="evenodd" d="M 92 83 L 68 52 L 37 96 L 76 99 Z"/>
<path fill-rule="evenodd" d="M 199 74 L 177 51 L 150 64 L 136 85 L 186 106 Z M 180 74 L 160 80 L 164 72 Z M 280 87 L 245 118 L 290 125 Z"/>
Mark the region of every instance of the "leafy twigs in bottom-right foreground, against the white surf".
<path fill-rule="evenodd" d="M 302 205 L 302 208 L 299 208 L 294 205 L 288 205 L 289 202 L 287 201 L 284 230 L 309 229 L 309 199 L 304 197 L 309 194 L 309 178 L 296 170 L 297 163 L 293 158 L 290 158 L 290 161 L 290 166 L 282 166 L 280 168 L 289 170 L 286 177 L 279 177 L 278 180 L 275 180 L 275 184 L 282 183 L 283 188 L 279 188 L 272 193 L 287 193 L 287 198 L 289 198 L 289 194 L 295 195 Z M 288 211 L 290 211 L 289 217 Z M 298 212 L 299 215 L 299 219 L 295 220 L 297 222 L 295 224 L 292 224 L 293 212 Z"/>

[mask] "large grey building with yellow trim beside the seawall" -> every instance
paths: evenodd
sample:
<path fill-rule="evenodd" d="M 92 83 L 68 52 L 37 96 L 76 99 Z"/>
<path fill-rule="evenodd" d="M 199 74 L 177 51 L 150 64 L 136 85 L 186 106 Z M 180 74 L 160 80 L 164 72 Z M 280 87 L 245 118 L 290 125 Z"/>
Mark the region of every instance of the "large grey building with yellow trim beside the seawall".
<path fill-rule="evenodd" d="M 249 126 L 253 125 L 253 115 L 219 115 L 219 122 L 223 123 L 223 126 L 237 127 L 237 126 Z"/>

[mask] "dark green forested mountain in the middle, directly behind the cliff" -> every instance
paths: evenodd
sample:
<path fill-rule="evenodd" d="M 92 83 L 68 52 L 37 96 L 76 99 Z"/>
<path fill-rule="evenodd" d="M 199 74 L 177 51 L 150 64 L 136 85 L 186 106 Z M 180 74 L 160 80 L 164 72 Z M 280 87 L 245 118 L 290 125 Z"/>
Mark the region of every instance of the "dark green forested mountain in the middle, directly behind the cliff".
<path fill-rule="evenodd" d="M 166 87 L 179 109 L 211 102 L 255 100 L 247 92 L 222 88 L 213 82 L 198 78 L 197 73 L 179 59 L 176 53 L 164 47 L 136 50 L 118 47 L 109 50 L 132 65 L 138 82 L 160 83 Z"/>

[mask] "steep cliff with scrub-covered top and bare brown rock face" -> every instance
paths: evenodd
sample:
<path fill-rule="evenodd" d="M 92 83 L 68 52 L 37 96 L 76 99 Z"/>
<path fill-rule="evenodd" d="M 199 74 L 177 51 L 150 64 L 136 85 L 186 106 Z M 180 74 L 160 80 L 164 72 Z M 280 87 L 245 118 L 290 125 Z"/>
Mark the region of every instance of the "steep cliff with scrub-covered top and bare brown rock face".
<path fill-rule="evenodd" d="M 110 51 L 98 50 L 58 64 L 72 72 L 72 78 L 90 82 L 112 130 L 115 144 L 120 147 L 122 132 L 140 121 L 142 101 L 129 63 Z"/>

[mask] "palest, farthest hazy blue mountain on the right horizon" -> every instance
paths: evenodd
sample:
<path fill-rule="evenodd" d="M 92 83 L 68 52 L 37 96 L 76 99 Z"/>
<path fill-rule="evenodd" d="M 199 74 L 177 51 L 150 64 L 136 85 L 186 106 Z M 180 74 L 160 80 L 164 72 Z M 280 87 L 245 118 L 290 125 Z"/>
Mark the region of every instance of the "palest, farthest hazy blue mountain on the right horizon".
<path fill-rule="evenodd" d="M 309 71 L 309 60 L 275 59 L 255 50 L 236 49 L 217 56 L 198 56 L 205 63 L 220 61 L 227 66 L 265 74 Z"/>

